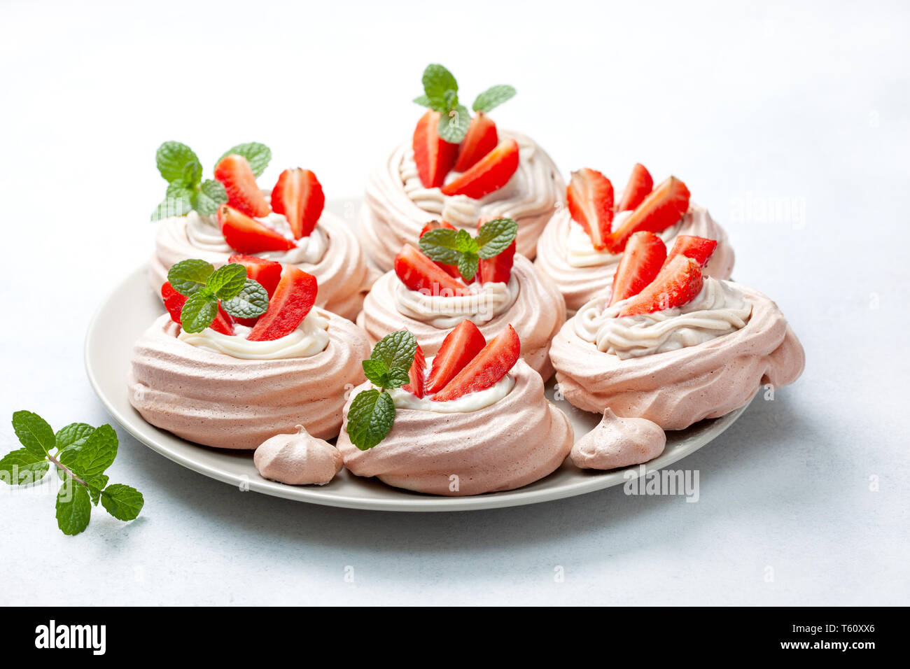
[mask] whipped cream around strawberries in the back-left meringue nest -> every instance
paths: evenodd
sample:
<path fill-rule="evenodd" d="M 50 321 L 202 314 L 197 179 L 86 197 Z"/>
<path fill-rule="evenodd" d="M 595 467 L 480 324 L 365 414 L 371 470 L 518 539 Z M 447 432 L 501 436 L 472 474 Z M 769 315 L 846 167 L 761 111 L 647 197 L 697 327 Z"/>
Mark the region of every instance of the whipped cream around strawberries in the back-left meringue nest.
<path fill-rule="evenodd" d="M 285 218 L 284 214 L 276 214 L 273 211 L 268 216 L 257 218 L 256 220 L 297 245 L 297 248 L 291 248 L 288 251 L 263 251 L 262 253 L 257 253 L 256 255 L 260 258 L 288 262 L 292 265 L 301 263 L 315 265 L 326 255 L 326 251 L 329 249 L 329 236 L 319 225 L 313 229 L 308 237 L 295 239 L 294 234 L 290 231 L 288 218 Z M 227 246 L 224 235 L 221 234 L 217 218 L 214 216 L 200 216 L 196 211 L 190 211 L 187 214 L 187 240 L 192 246 L 206 251 L 234 253 L 234 250 Z"/>

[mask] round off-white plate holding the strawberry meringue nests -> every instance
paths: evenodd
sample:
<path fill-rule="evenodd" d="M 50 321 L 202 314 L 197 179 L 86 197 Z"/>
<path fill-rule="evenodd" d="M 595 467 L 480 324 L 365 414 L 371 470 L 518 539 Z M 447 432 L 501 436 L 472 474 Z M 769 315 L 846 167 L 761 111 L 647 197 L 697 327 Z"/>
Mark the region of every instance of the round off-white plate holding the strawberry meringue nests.
<path fill-rule="evenodd" d="M 329 202 L 328 208 L 342 215 L 351 200 Z M 548 502 L 619 485 L 625 470 L 581 471 L 571 461 L 550 476 L 508 492 L 473 497 L 436 497 L 391 488 L 376 479 L 362 479 L 342 470 L 325 486 L 291 486 L 268 481 L 253 466 L 253 451 L 223 451 L 184 441 L 170 432 L 149 425 L 130 405 L 126 396 L 126 372 L 133 342 L 149 324 L 164 313 L 161 300 L 148 283 L 146 268 L 137 269 L 106 299 L 88 326 L 86 371 L 88 380 L 107 411 L 126 431 L 165 457 L 218 481 L 244 486 L 268 495 L 301 502 L 378 511 L 439 512 L 492 509 Z M 553 399 L 552 381 L 547 396 Z M 556 405 L 569 414 L 576 438 L 590 431 L 600 416 L 580 411 L 565 400 Z M 667 432 L 667 446 L 649 470 L 661 469 L 702 448 L 733 424 L 742 407 L 725 416 L 701 421 L 683 431 Z"/>

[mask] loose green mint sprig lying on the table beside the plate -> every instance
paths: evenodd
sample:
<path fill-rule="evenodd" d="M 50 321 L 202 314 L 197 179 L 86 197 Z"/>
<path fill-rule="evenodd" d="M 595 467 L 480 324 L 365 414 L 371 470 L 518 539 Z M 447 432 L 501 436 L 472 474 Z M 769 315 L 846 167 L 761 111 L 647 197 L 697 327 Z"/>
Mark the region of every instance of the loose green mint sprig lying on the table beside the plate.
<path fill-rule="evenodd" d="M 86 529 L 98 502 L 115 518 L 132 521 L 145 503 L 142 493 L 122 483 L 108 485 L 104 473 L 117 453 L 110 425 L 71 423 L 56 433 L 32 411 L 13 414 L 13 430 L 23 448 L 0 459 L 0 479 L 15 485 L 41 481 L 53 464 L 63 481 L 56 496 L 57 526 L 64 534 Z"/>

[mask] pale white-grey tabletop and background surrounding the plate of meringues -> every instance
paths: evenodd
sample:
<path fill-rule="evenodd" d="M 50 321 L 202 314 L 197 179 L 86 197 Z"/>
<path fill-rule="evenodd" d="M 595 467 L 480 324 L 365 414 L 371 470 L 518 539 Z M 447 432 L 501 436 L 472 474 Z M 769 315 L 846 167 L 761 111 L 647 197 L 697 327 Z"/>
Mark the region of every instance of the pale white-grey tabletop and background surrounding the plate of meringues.
<path fill-rule="evenodd" d="M 410 133 L 430 61 L 469 101 L 517 86 L 495 117 L 565 173 L 622 183 L 642 161 L 682 177 L 807 367 L 683 461 L 697 503 L 613 488 L 482 512 L 346 511 L 238 492 L 122 434 L 111 474 L 145 492 L 136 522 L 96 513 L 64 537 L 47 489 L 0 487 L 0 577 L 17 583 L 0 603 L 907 603 L 905 4 L 468 2 L 401 5 L 394 20 L 377 4 L 48 5 L 0 9 L 7 417 L 108 420 L 82 338 L 150 252 L 161 140 L 210 168 L 258 139 L 275 150 L 264 183 L 300 163 L 329 195 L 355 193 Z M 427 39 L 440 25 L 451 40 Z M 224 56 L 238 35 L 248 62 Z M 773 198 L 804 217 L 743 213 Z M 0 445 L 14 447 L 10 428 Z"/>

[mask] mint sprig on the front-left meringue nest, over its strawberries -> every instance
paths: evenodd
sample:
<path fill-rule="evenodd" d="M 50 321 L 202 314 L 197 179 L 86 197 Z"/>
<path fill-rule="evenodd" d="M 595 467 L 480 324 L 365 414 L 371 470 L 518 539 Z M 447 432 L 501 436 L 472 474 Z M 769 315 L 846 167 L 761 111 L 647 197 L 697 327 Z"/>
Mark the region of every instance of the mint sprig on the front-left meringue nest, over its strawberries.
<path fill-rule="evenodd" d="M 180 309 L 180 327 L 201 332 L 212 324 L 221 309 L 239 319 L 255 319 L 268 310 L 268 292 L 258 281 L 248 279 L 247 268 L 232 262 L 215 269 L 199 258 L 181 260 L 167 271 L 167 281 L 187 297 Z"/>

